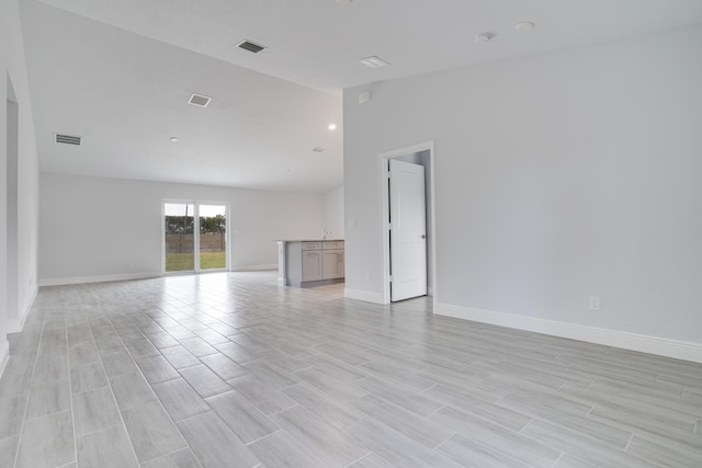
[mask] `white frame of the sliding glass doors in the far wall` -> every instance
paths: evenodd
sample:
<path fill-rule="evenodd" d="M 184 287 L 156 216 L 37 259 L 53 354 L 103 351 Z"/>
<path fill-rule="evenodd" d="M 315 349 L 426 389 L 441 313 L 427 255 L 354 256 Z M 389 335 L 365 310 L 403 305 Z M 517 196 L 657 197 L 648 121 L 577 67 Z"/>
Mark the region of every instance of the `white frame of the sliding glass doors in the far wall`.
<path fill-rule="evenodd" d="M 166 271 L 166 225 L 163 218 L 166 217 L 166 204 L 188 204 L 193 205 L 193 270 L 167 272 Z M 224 269 L 200 269 L 200 205 L 222 205 L 224 206 L 225 216 L 225 267 Z M 207 202 L 207 201 L 193 201 L 184 198 L 161 198 L 161 274 L 163 276 L 177 276 L 177 275 L 199 275 L 202 273 L 220 273 L 231 271 L 231 209 L 229 202 Z"/>

